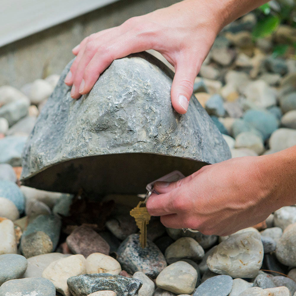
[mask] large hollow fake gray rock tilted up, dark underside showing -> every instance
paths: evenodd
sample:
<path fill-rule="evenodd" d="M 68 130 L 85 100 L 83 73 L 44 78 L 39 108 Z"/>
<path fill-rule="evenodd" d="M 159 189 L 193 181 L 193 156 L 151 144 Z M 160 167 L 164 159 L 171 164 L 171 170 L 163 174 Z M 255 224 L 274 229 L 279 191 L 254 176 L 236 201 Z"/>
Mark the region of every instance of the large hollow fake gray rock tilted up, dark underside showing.
<path fill-rule="evenodd" d="M 71 98 L 64 83 L 70 66 L 25 146 L 24 185 L 138 194 L 168 171 L 189 175 L 205 163 L 230 158 L 226 142 L 194 97 L 186 115 L 173 110 L 173 72 L 151 55 L 116 59 L 79 100 Z"/>

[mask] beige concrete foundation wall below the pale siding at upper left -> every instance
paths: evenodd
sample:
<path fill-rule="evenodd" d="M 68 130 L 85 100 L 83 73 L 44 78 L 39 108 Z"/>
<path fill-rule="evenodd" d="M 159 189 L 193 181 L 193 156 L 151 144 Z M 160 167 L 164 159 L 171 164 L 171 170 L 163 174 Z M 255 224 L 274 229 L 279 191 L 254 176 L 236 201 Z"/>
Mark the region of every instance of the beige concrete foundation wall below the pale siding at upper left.
<path fill-rule="evenodd" d="M 121 0 L 0 48 L 0 86 L 20 88 L 50 74 L 59 74 L 73 58 L 71 49 L 100 30 L 130 17 L 167 7 L 177 0 Z"/>

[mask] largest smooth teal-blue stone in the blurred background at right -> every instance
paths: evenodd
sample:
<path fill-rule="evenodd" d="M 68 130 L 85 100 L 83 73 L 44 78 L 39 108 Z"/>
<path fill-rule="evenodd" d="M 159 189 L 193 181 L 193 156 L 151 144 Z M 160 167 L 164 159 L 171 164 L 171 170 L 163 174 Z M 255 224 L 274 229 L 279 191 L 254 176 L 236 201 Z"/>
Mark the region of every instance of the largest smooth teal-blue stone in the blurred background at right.
<path fill-rule="evenodd" d="M 243 119 L 262 133 L 263 140 L 268 139 L 279 127 L 276 117 L 268 111 L 248 110 L 245 112 Z"/>

